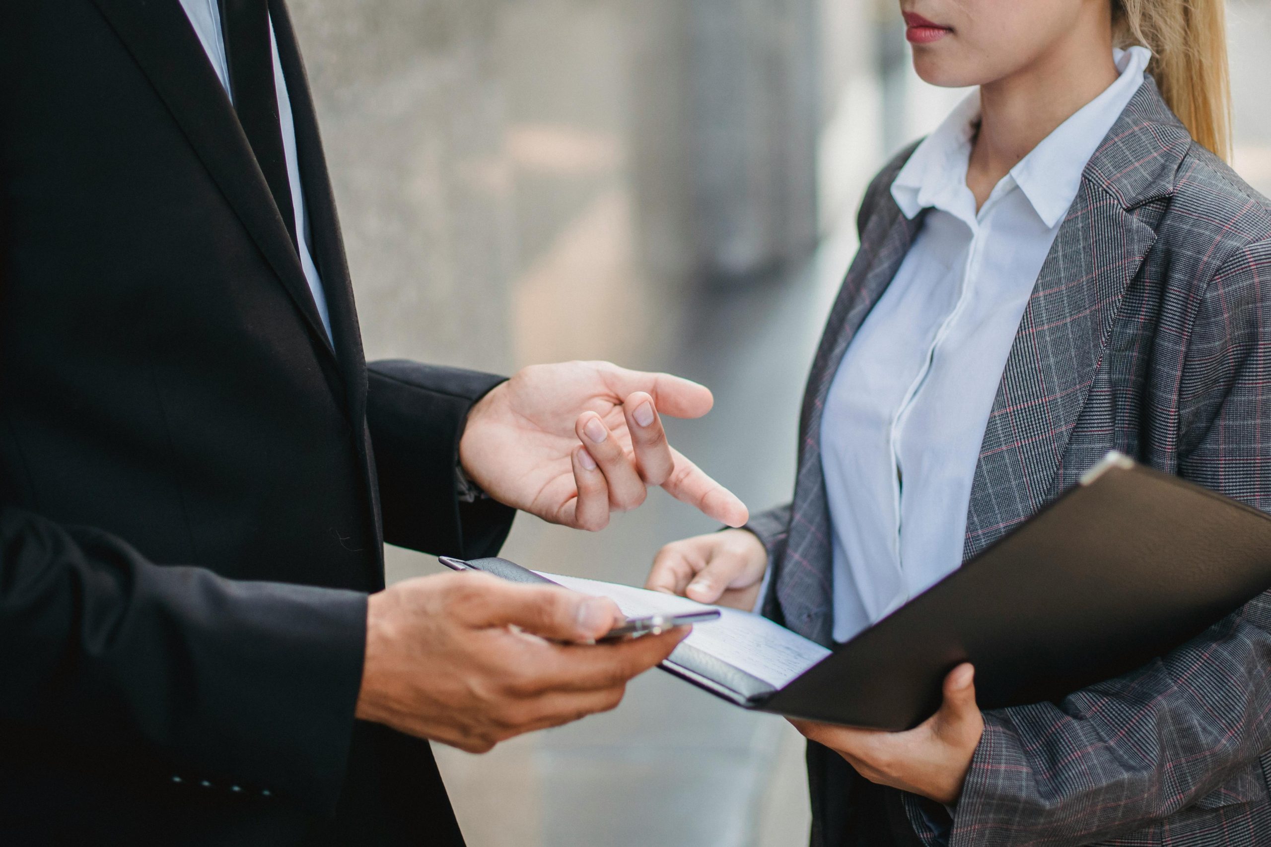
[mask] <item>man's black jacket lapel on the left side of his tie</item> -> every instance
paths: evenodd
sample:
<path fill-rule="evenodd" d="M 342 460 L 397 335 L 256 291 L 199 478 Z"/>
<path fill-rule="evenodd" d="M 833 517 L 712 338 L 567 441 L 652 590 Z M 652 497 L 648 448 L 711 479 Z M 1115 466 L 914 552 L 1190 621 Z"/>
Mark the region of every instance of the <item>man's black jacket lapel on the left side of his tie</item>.
<path fill-rule="evenodd" d="M 333 354 L 264 174 L 180 5 L 149 0 L 94 3 L 150 79 L 261 253 L 286 286 L 315 342 Z"/>

